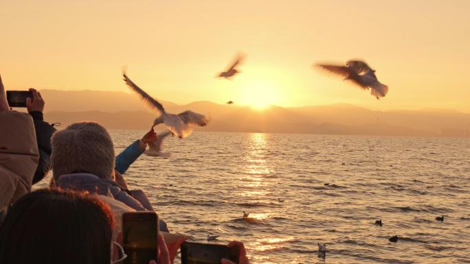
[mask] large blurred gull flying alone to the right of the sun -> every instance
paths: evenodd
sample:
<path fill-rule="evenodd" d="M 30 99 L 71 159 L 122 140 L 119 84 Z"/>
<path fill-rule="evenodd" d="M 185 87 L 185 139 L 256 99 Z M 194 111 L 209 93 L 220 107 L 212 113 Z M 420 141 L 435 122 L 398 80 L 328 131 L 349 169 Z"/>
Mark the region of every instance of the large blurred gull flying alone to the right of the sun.
<path fill-rule="evenodd" d="M 323 69 L 342 75 L 344 80 L 350 80 L 365 90 L 370 88 L 370 94 L 377 99 L 385 97 L 388 93 L 388 86 L 381 84 L 381 82 L 377 80 L 375 71 L 370 69 L 366 62 L 349 60 L 346 62 L 346 66 L 330 64 L 317 65 Z"/>

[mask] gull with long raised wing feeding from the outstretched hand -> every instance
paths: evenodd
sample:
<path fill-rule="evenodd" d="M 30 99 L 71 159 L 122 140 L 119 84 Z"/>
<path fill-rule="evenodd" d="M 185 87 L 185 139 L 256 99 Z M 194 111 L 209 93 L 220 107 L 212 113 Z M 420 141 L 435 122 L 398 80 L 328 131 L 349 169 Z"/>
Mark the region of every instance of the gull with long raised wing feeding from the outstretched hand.
<path fill-rule="evenodd" d="M 165 111 L 165 108 L 159 103 L 159 101 L 153 99 L 150 95 L 148 95 L 144 90 L 139 88 L 134 82 L 131 81 L 126 75 L 126 73 L 122 73 L 124 77 L 124 82 L 126 82 L 127 86 L 131 88 L 135 93 L 137 93 L 142 100 L 152 108 L 155 112 L 159 113 L 159 117 L 153 121 L 152 128 L 159 123 L 164 123 L 166 128 L 172 132 L 172 134 L 177 135 L 180 139 L 189 136 L 192 133 L 192 129 L 194 125 L 205 126 L 209 122 L 208 117 L 205 115 L 198 114 L 197 112 L 192 111 L 184 111 L 178 115 L 170 114 L 169 112 Z"/>

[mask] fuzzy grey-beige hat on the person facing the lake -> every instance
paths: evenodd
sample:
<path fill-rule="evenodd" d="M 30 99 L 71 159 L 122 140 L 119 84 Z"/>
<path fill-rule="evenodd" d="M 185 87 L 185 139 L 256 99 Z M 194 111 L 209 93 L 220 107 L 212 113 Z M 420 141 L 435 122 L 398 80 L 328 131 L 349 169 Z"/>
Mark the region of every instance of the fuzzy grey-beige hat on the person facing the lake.
<path fill-rule="evenodd" d="M 73 123 L 52 136 L 51 163 L 54 180 L 77 172 L 111 178 L 115 163 L 111 136 L 98 123 Z"/>

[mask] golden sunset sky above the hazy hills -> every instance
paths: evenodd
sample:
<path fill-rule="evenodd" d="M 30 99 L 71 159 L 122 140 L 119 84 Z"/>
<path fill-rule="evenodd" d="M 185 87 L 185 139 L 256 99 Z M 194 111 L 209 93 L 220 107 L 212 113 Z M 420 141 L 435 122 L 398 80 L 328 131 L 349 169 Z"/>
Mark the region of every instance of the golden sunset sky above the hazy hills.
<path fill-rule="evenodd" d="M 470 1 L 2 0 L 0 73 L 10 89 L 126 91 L 186 104 L 470 112 Z M 233 81 L 214 76 L 247 54 Z M 366 60 L 377 101 L 315 62 Z M 47 100 L 47 99 L 46 99 Z"/>

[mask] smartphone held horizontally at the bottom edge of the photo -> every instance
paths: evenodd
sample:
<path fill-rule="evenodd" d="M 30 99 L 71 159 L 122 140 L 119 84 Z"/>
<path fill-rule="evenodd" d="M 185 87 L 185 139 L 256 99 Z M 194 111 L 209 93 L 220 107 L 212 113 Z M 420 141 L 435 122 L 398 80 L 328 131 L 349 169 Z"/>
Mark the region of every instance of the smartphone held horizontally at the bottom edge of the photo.
<path fill-rule="evenodd" d="M 238 247 L 188 241 L 181 245 L 181 264 L 220 264 L 221 259 L 238 264 L 238 256 Z"/>

